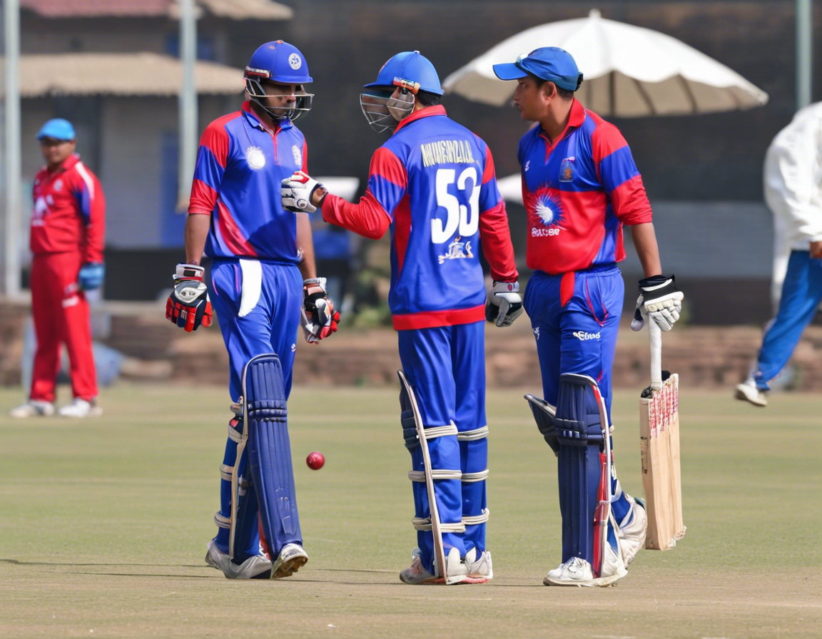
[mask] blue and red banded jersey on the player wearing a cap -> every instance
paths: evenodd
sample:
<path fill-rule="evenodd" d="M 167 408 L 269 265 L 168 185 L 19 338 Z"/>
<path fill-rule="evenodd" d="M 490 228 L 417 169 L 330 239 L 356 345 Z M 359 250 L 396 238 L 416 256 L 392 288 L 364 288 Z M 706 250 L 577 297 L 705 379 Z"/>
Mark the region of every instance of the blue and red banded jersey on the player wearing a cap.
<path fill-rule="evenodd" d="M 528 213 L 526 262 L 561 274 L 625 260 L 622 225 L 651 221 L 651 206 L 619 129 L 574 100 L 565 131 L 534 126 L 520 140 Z"/>

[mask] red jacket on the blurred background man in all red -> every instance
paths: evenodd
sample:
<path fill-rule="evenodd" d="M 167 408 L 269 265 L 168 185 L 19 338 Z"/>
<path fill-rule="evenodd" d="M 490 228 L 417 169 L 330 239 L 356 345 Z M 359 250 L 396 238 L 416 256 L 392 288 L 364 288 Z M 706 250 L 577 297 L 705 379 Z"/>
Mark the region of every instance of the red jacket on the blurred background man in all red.
<path fill-rule="evenodd" d="M 97 176 L 72 154 L 55 171 L 41 168 L 32 188 L 30 247 L 35 255 L 79 251 L 103 261 L 105 198 Z"/>

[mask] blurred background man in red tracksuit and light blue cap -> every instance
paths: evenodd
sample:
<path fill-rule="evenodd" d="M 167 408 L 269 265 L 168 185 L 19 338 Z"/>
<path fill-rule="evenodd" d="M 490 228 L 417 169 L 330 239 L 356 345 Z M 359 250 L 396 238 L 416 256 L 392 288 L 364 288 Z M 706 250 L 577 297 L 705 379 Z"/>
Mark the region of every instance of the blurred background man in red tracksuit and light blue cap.
<path fill-rule="evenodd" d="M 97 375 L 91 350 L 86 291 L 103 284 L 105 199 L 103 187 L 75 153 L 74 126 L 62 118 L 46 122 L 37 134 L 46 165 L 35 177 L 30 246 L 31 312 L 37 350 L 29 401 L 12 417 L 54 414 L 54 388 L 60 345 L 71 363 L 74 401 L 60 408 L 64 417 L 96 417 Z"/>

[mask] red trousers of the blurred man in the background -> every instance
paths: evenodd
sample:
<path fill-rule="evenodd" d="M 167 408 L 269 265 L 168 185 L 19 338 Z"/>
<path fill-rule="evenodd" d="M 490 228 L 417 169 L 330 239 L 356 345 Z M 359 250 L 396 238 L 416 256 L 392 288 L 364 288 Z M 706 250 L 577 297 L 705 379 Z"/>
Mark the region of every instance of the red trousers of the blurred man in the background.
<path fill-rule="evenodd" d="M 72 369 L 74 397 L 97 397 L 97 374 L 91 352 L 89 303 L 77 287 L 82 255 L 44 253 L 31 263 L 31 310 L 37 352 L 31 377 L 31 399 L 54 401 L 60 370 L 60 344 L 65 342 Z"/>

